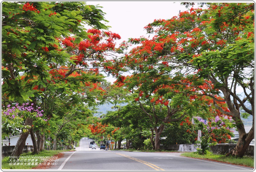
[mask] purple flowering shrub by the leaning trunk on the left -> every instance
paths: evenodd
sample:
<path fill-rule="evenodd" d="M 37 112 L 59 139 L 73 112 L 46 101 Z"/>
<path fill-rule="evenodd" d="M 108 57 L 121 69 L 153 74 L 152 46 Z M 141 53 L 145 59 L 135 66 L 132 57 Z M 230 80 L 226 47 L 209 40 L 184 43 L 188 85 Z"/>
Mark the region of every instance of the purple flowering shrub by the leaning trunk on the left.
<path fill-rule="evenodd" d="M 26 118 L 32 118 L 38 124 L 45 124 L 43 119 L 44 111 L 41 107 L 33 107 L 33 103 L 3 106 L 2 108 L 2 133 L 3 137 L 19 135 L 21 132 L 28 132 L 32 126 L 24 125 Z"/>

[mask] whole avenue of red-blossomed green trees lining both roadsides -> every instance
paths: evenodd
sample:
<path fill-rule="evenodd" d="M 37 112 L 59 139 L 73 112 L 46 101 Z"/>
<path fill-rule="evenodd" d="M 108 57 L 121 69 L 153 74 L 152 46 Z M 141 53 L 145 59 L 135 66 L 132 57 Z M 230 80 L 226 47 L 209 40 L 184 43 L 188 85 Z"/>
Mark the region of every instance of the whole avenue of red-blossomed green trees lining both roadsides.
<path fill-rule="evenodd" d="M 190 5 L 145 26 L 152 38 L 116 48 L 121 37 L 98 6 L 3 2 L 2 136 L 20 135 L 12 156 L 28 134 L 34 153 L 91 136 L 159 150 L 161 137 L 197 143 L 198 129 L 204 153 L 230 143 L 235 127 L 229 154 L 243 157 L 254 138 L 254 4 Z M 108 102 L 114 111 L 94 117 Z M 252 116 L 249 133 L 241 116 Z"/>

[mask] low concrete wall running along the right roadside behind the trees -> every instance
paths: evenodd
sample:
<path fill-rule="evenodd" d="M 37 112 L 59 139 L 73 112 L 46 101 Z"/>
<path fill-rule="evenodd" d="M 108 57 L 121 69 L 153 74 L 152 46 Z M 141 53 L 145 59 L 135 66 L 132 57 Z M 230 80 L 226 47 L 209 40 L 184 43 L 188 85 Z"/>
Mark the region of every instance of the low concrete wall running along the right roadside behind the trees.
<path fill-rule="evenodd" d="M 215 154 L 224 155 L 230 152 L 235 147 L 236 147 L 236 144 L 217 144 L 214 146 L 210 146 L 210 149 Z M 177 152 L 196 152 L 198 145 L 197 144 L 162 145 L 160 148 L 164 150 L 177 151 Z M 246 150 L 245 155 L 253 156 L 253 153 L 254 153 L 254 146 L 250 145 L 249 148 Z"/>

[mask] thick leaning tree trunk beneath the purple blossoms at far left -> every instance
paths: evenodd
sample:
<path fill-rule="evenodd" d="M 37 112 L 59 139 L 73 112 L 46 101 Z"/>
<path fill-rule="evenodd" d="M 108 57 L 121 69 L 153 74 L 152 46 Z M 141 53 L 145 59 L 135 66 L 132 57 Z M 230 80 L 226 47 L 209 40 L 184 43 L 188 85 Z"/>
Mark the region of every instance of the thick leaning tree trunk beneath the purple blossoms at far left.
<path fill-rule="evenodd" d="M 30 125 L 32 126 L 32 123 L 33 123 L 33 119 L 32 118 L 27 118 L 25 120 L 25 124 L 24 125 Z M 18 157 L 21 155 L 22 153 L 22 150 L 24 148 L 24 146 L 26 145 L 26 140 L 28 138 L 28 134 L 30 133 L 30 129 L 28 129 L 28 132 L 26 133 L 21 133 L 20 134 L 20 137 L 12 151 L 12 154 L 11 156 L 15 156 L 15 157 Z"/>

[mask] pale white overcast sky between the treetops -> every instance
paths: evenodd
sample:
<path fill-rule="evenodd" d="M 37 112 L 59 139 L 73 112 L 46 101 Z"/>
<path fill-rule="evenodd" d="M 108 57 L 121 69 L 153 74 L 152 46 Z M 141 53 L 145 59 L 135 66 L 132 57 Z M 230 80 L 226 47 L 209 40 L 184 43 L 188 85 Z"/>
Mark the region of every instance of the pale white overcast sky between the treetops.
<path fill-rule="evenodd" d="M 86 1 L 88 5 L 102 6 L 106 13 L 111 32 L 121 36 L 117 45 L 128 38 L 146 36 L 144 27 L 155 19 L 171 19 L 179 11 L 187 10 L 180 2 L 174 1 Z"/>

